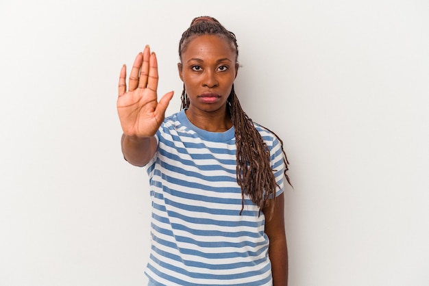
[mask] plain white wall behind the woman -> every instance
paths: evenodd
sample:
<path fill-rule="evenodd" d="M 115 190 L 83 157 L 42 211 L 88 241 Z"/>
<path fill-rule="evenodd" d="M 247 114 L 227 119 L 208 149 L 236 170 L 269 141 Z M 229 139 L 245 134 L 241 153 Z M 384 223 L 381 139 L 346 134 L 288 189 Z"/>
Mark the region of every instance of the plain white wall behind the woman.
<path fill-rule="evenodd" d="M 121 157 L 122 64 L 151 44 L 168 114 L 194 16 L 234 31 L 247 114 L 277 132 L 290 285 L 429 285 L 429 4 L 1 1 L 0 285 L 145 285 L 147 176 Z"/>

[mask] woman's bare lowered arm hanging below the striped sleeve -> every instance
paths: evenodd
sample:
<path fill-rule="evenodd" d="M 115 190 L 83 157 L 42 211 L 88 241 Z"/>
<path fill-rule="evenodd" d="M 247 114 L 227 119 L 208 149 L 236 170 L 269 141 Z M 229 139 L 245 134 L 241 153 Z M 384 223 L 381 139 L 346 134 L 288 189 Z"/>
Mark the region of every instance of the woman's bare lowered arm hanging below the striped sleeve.
<path fill-rule="evenodd" d="M 266 210 L 269 213 L 269 209 Z M 265 233 L 269 237 L 269 259 L 273 286 L 286 286 L 288 281 L 288 252 L 284 231 L 284 194 L 275 198 L 271 219 L 265 222 Z"/>

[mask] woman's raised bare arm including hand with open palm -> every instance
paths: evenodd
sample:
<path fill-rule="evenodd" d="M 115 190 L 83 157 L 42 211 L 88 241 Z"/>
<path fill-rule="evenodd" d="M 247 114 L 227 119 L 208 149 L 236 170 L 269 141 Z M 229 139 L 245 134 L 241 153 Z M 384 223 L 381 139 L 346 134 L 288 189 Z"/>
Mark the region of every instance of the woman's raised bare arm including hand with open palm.
<path fill-rule="evenodd" d="M 158 64 L 149 46 L 134 60 L 128 91 L 126 66 L 119 76 L 117 109 L 123 135 L 121 139 L 124 158 L 136 166 L 144 166 L 156 152 L 154 135 L 164 120 L 173 92 L 167 92 L 158 102 Z"/>

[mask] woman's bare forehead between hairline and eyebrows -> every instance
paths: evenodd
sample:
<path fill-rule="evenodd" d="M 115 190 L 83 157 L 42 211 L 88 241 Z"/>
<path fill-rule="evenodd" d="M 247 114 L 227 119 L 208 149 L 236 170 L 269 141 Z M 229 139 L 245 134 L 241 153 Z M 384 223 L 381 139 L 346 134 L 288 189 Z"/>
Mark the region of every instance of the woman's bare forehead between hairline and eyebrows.
<path fill-rule="evenodd" d="M 228 39 L 217 35 L 195 36 L 189 40 L 186 49 L 182 53 L 182 60 L 189 58 L 226 57 L 235 61 L 234 51 Z"/>

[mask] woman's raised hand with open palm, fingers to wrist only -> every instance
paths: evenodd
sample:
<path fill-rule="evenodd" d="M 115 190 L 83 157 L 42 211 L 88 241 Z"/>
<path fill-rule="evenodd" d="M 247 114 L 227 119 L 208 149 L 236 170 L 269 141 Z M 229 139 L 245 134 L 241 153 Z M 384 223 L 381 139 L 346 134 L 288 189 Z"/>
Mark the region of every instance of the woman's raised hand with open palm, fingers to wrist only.
<path fill-rule="evenodd" d="M 121 68 L 117 108 L 123 133 L 144 138 L 155 135 L 164 120 L 173 92 L 167 92 L 158 102 L 158 64 L 149 46 L 134 60 L 127 91 L 127 67 Z"/>

